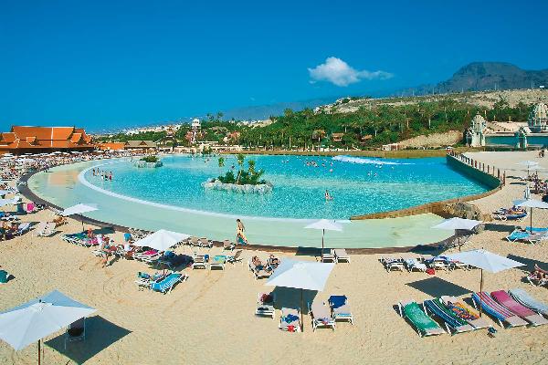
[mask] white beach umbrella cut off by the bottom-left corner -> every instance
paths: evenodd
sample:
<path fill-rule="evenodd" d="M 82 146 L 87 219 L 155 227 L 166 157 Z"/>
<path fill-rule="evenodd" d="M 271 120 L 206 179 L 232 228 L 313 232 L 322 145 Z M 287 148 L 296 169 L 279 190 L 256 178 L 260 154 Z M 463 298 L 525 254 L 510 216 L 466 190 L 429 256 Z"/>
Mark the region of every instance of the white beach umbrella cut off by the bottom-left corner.
<path fill-rule="evenodd" d="M 40 364 L 41 339 L 68 327 L 80 318 L 90 316 L 96 309 L 79 303 L 54 290 L 16 308 L 0 313 L 0 339 L 19 350 L 38 342 Z"/>

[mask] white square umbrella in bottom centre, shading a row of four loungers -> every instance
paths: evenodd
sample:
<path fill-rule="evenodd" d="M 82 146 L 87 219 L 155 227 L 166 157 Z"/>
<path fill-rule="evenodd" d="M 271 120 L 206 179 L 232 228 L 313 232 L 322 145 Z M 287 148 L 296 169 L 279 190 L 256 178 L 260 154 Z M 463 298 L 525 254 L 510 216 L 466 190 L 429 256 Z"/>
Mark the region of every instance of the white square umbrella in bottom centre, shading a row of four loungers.
<path fill-rule="evenodd" d="M 322 291 L 335 264 L 284 259 L 269 277 L 266 286 L 300 289 L 300 304 L 304 308 L 303 291 Z M 300 325 L 303 325 L 300 310 Z"/>

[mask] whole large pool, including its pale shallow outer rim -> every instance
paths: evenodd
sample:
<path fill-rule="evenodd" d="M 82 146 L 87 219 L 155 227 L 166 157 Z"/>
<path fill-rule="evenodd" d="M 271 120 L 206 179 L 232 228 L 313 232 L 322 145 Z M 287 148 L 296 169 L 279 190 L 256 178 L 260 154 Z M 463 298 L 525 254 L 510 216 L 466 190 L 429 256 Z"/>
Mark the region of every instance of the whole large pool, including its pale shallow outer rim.
<path fill-rule="evenodd" d="M 342 233 L 329 233 L 333 247 L 385 247 L 429 244 L 452 232 L 430 227 L 435 214 L 347 221 L 354 214 L 406 208 L 421 203 L 482 193 L 487 187 L 451 170 L 445 159 L 353 159 L 304 156 L 248 156 L 272 193 L 251 195 L 205 191 L 201 183 L 237 164 L 216 158 L 167 156 L 163 167 L 138 169 L 127 159 L 81 162 L 38 172 L 28 181 L 34 193 L 67 207 L 98 203 L 87 214 L 105 222 L 149 230 L 172 229 L 190 235 L 234 239 L 236 217 L 244 219 L 251 243 L 317 246 L 321 234 L 302 229 L 317 218 L 346 222 Z M 112 172 L 113 179 L 93 176 L 92 169 Z M 325 202 L 324 191 L 333 200 Z"/>

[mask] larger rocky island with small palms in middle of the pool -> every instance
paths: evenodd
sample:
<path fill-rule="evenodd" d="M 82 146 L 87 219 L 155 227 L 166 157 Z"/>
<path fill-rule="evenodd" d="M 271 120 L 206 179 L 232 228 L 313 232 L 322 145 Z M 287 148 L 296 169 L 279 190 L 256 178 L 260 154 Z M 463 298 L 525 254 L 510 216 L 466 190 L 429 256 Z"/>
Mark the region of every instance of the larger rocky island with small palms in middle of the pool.
<path fill-rule="evenodd" d="M 219 168 L 225 166 L 225 158 L 219 157 Z M 237 155 L 237 164 L 239 166 L 237 174 L 229 170 L 225 175 L 216 178 L 208 179 L 202 186 L 205 189 L 222 190 L 234 193 L 270 193 L 272 192 L 272 184 L 261 180 L 264 174 L 263 170 L 255 169 L 255 161 L 248 161 L 248 170 L 244 170 L 245 156 Z"/>

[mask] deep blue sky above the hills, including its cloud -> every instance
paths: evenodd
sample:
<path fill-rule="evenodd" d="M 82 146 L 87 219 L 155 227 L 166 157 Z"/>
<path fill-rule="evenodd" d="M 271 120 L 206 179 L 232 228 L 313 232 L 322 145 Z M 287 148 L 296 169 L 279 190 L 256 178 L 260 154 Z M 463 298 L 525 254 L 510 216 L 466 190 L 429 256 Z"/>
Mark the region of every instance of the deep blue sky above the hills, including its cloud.
<path fill-rule="evenodd" d="M 363 95 L 471 61 L 548 68 L 545 1 L 185 3 L 2 2 L 1 130 Z"/>

